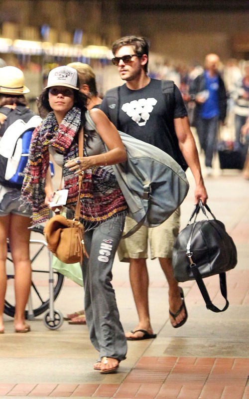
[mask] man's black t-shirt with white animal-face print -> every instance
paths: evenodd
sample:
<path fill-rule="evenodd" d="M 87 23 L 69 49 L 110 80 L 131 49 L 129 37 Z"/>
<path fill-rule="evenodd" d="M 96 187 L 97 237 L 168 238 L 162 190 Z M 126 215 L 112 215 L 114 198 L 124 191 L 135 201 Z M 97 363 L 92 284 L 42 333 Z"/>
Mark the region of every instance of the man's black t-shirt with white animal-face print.
<path fill-rule="evenodd" d="M 105 97 L 101 109 L 110 117 Z M 120 87 L 118 128 L 175 158 L 172 144 L 172 134 L 175 135 L 175 132 L 172 132 L 173 120 L 187 116 L 181 93 L 176 86 L 172 114 L 167 115 L 165 109 L 165 95 L 162 93 L 160 80 L 151 79 L 147 86 L 139 90 L 130 90 L 124 84 Z"/>

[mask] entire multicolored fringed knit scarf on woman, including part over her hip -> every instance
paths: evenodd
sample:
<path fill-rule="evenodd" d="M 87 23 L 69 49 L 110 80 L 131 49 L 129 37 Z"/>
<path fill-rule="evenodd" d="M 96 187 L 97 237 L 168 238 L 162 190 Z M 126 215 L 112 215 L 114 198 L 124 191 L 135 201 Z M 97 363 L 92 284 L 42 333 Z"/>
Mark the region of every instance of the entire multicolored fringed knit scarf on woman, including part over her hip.
<path fill-rule="evenodd" d="M 81 111 L 74 107 L 66 114 L 60 125 L 58 125 L 54 113 L 51 112 L 34 130 L 20 199 L 21 202 L 31 204 L 33 224 L 42 223 L 49 218 L 49 208 L 44 203 L 49 146 L 53 146 L 57 152 L 63 154 L 63 163 L 78 157 L 77 133 L 81 122 Z M 84 138 L 86 139 L 90 132 L 85 130 Z M 87 156 L 85 147 L 87 147 L 86 141 L 84 156 Z M 66 206 L 73 210 L 74 215 L 79 192 L 79 179 L 69 168 L 63 168 L 63 178 L 64 187 L 68 189 Z M 85 231 L 117 214 L 127 212 L 127 203 L 111 167 L 108 169 L 92 167 L 85 171 L 80 201 L 81 222 L 84 223 Z"/>

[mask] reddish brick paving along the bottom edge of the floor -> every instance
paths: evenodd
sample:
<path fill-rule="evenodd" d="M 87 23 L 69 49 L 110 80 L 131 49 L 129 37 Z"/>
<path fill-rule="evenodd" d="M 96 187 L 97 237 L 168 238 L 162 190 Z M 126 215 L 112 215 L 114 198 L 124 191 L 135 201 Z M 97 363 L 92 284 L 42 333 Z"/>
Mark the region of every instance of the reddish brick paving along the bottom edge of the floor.
<path fill-rule="evenodd" d="M 249 359 L 142 357 L 118 384 L 1 384 L 0 396 L 249 399 Z"/>

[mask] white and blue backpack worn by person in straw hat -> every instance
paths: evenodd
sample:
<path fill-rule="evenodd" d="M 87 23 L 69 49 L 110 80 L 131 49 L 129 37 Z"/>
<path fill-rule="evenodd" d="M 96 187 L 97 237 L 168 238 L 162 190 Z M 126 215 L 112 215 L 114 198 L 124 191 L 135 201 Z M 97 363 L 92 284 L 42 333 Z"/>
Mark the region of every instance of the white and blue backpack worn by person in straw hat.
<path fill-rule="evenodd" d="M 17 119 L 0 139 L 0 184 L 21 189 L 33 130 L 41 122 L 37 115 L 28 122 Z"/>

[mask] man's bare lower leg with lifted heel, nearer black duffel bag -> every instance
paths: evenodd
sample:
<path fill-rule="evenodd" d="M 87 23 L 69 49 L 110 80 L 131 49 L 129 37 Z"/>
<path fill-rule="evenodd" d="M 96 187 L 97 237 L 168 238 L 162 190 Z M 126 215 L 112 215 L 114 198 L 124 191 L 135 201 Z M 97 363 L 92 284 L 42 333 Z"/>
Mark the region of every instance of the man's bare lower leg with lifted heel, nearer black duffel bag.
<path fill-rule="evenodd" d="M 159 262 L 169 285 L 169 309 L 172 313 L 176 313 L 182 305 L 182 298 L 180 296 L 178 282 L 174 278 L 172 262 L 170 258 L 159 258 Z M 185 318 L 185 316 L 186 314 L 184 308 L 175 320 L 170 315 L 170 322 L 172 326 L 175 327 L 177 324 L 179 324 Z"/>

